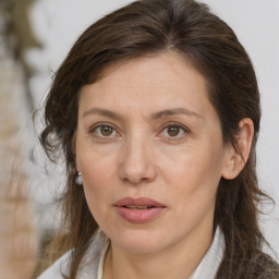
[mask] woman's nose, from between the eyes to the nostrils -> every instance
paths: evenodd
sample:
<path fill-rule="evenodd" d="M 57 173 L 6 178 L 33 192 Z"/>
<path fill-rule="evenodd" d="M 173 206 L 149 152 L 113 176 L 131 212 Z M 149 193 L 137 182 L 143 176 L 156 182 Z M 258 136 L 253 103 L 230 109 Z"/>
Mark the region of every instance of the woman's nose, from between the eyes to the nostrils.
<path fill-rule="evenodd" d="M 141 138 L 131 140 L 123 146 L 120 160 L 122 181 L 138 185 L 155 180 L 157 171 L 151 148 L 150 144 Z"/>

